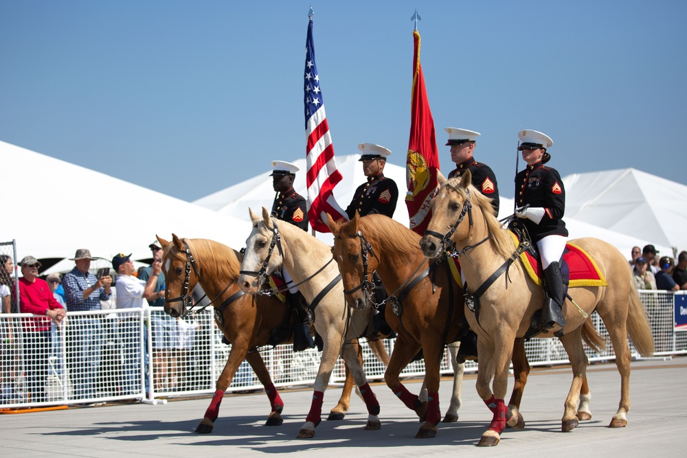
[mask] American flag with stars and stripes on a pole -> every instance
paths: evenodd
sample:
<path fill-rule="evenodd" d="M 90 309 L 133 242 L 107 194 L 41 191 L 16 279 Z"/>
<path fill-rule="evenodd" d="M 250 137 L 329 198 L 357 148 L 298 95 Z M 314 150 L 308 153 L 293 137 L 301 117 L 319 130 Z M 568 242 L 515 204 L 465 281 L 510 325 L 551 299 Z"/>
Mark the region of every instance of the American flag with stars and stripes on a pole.
<path fill-rule="evenodd" d="M 306 58 L 304 72 L 305 135 L 307 140 L 306 161 L 308 173 L 308 219 L 318 232 L 329 232 L 327 215 L 334 220 L 346 218 L 346 213 L 335 201 L 333 190 L 341 181 L 341 172 L 334 159 L 334 146 L 329 133 L 327 115 L 324 113 L 322 91 L 319 89 L 319 74 L 315 66 L 315 45 L 313 43 L 313 18 L 308 23 Z"/>

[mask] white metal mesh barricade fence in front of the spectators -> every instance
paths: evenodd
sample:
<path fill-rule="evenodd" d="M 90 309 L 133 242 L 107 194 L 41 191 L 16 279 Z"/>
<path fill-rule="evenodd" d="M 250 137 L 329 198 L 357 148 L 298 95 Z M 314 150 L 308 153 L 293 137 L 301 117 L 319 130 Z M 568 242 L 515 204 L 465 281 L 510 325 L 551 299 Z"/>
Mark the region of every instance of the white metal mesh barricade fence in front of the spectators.
<path fill-rule="evenodd" d="M 687 354 L 687 332 L 675 332 L 673 293 L 640 291 L 651 321 L 655 356 Z M 615 356 L 603 323 L 594 324 L 608 343 L 604 354 L 587 348 L 591 362 Z M 212 310 L 190 319 L 174 319 L 161 308 L 68 312 L 63 325 L 45 323 L 31 314 L 0 314 L 0 409 L 60 404 L 90 404 L 117 400 L 155 402 L 157 398 L 214 392 L 214 384 L 227 361 L 230 346 L 214 323 Z M 43 324 L 41 324 L 43 323 Z M 394 341 L 385 341 L 392 352 Z M 365 373 L 381 380 L 385 367 L 362 344 Z M 585 347 L 586 348 L 586 347 Z M 634 351 L 633 354 L 638 356 Z M 530 365 L 567 363 L 558 339 L 526 343 Z M 276 387 L 311 385 L 319 367 L 316 349 L 293 353 L 291 345 L 266 349 L 262 357 Z M 442 373 L 451 373 L 449 352 Z M 466 371 L 476 371 L 469 362 Z M 424 363 L 416 361 L 403 376 L 423 376 Z M 333 383 L 343 382 L 343 362 L 335 366 Z M 244 361 L 228 391 L 251 391 L 262 385 Z"/>

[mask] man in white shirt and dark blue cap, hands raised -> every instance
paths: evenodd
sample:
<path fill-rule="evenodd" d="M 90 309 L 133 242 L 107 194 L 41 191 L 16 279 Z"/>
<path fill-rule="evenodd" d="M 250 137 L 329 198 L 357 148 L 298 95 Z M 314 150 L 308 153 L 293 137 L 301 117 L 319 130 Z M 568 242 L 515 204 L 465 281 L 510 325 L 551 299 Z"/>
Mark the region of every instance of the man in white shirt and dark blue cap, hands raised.
<path fill-rule="evenodd" d="M 117 272 L 117 308 L 144 308 L 148 303 L 144 299 L 155 300 L 164 297 L 164 291 L 155 293 L 157 276 L 162 271 L 162 262 L 156 260 L 150 265 L 148 282 L 134 277 L 136 268 L 131 261 L 131 254 L 119 253 L 112 258 L 112 267 Z M 122 345 L 122 394 L 144 393 L 144 374 L 141 367 L 141 356 L 146 350 L 145 337 L 142 333 L 143 321 L 138 314 L 121 314 L 118 334 Z"/>

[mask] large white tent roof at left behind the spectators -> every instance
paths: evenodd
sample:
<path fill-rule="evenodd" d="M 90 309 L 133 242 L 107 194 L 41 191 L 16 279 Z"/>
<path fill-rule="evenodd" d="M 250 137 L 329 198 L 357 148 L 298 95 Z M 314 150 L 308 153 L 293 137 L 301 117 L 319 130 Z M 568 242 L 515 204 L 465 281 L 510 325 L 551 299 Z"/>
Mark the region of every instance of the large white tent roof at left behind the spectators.
<path fill-rule="evenodd" d="M 3 141 L 0 163 L 6 172 L 3 189 L 11 191 L 3 194 L 0 241 L 16 239 L 18 259 L 25 255 L 63 259 L 86 248 L 106 260 L 120 251 L 141 260 L 151 257 L 148 245 L 156 235 L 170 240 L 172 232 L 179 237 L 211 238 L 238 249 L 251 230 L 245 219 Z M 107 196 L 105 205 L 103 196 Z M 103 263 L 91 267 L 96 264 Z M 73 266 L 73 261 L 64 260 L 41 275 Z"/>

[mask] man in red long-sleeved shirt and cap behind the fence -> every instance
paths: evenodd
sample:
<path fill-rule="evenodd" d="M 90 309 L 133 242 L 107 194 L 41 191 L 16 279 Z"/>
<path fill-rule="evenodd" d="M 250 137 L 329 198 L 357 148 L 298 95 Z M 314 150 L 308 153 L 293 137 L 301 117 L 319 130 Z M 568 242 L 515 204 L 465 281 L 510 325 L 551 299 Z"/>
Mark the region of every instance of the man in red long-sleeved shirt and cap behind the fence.
<path fill-rule="evenodd" d="M 19 262 L 19 311 L 39 315 L 23 318 L 23 358 L 26 382 L 31 402 L 45 402 L 45 381 L 47 380 L 48 357 L 50 355 L 50 321 L 62 323 L 67 311 L 52 295 L 45 280 L 38 278 L 41 263 L 33 256 L 24 256 Z"/>

